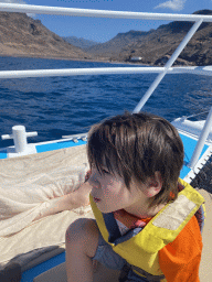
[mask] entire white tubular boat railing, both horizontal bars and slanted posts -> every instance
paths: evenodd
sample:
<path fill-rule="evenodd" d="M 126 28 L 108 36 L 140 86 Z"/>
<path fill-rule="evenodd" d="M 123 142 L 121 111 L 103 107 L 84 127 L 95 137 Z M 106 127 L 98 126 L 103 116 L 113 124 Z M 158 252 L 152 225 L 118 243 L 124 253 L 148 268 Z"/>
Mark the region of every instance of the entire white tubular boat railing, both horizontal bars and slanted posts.
<path fill-rule="evenodd" d="M 188 34 L 184 36 L 180 45 L 177 47 L 172 56 L 169 58 L 165 67 L 113 67 L 113 68 L 74 68 L 74 69 L 35 69 L 35 70 L 2 70 L 0 78 L 23 78 L 23 77 L 46 77 L 46 76 L 72 76 L 72 75 L 110 75 L 110 74 L 145 74 L 158 73 L 159 75 L 151 84 L 147 93 L 140 99 L 132 112 L 139 112 L 147 102 L 151 94 L 158 87 L 166 74 L 198 74 L 212 75 L 212 66 L 206 67 L 172 67 L 176 59 L 187 46 L 190 39 L 200 28 L 202 22 L 212 22 L 212 15 L 203 14 L 165 14 L 165 13 L 144 13 L 144 12 L 126 12 L 126 11 L 108 11 L 92 9 L 74 9 L 61 7 L 30 6 L 30 4 L 12 4 L 0 3 L 0 11 L 4 12 L 23 12 L 40 13 L 70 17 L 92 17 L 92 18 L 109 18 L 109 19 L 134 19 L 134 20 L 163 20 L 163 21 L 190 21 L 194 22 Z M 205 126 L 189 164 L 194 167 L 197 160 L 203 149 L 204 142 L 212 127 L 212 108 L 209 112 Z"/>

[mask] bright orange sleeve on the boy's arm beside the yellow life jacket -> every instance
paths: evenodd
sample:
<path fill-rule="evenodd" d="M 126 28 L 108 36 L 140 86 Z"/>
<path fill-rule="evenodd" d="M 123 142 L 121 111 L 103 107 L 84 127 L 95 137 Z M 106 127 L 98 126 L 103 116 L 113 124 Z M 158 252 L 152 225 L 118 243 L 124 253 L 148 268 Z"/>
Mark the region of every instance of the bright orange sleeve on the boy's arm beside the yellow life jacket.
<path fill-rule="evenodd" d="M 159 263 L 167 282 L 200 282 L 201 253 L 202 236 L 193 216 L 176 240 L 159 251 Z"/>

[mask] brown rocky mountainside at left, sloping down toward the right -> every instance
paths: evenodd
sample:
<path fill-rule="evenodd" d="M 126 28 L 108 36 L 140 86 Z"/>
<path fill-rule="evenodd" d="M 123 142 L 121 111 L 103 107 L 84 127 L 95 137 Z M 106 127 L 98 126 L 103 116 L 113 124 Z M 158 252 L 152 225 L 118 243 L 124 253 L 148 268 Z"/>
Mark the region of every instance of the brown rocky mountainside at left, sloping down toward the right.
<path fill-rule="evenodd" d="M 25 13 L 0 12 L 0 55 L 81 58 L 93 55 L 71 45 Z"/>

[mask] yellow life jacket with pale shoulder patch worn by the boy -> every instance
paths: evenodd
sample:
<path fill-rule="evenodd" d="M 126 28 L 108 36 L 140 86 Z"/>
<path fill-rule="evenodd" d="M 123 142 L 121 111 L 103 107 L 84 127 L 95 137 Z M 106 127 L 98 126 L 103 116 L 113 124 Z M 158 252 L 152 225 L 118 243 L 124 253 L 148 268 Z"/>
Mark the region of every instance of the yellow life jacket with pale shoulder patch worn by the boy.
<path fill-rule="evenodd" d="M 136 228 L 119 238 L 116 238 L 116 234 L 113 235 L 118 228 L 113 213 L 100 213 L 91 196 L 92 209 L 104 240 L 130 265 L 144 270 L 144 273 L 150 276 L 163 274 L 159 265 L 158 252 L 176 239 L 193 215 L 197 216 L 202 229 L 205 213 L 204 198 L 184 181 L 179 180 L 179 183 L 184 188 L 179 192 L 174 202 L 167 204 L 144 229 L 136 230 Z M 137 274 L 148 278 L 142 275 L 142 272 L 136 271 L 136 268 L 132 269 Z M 166 279 L 158 281 L 163 282 Z"/>

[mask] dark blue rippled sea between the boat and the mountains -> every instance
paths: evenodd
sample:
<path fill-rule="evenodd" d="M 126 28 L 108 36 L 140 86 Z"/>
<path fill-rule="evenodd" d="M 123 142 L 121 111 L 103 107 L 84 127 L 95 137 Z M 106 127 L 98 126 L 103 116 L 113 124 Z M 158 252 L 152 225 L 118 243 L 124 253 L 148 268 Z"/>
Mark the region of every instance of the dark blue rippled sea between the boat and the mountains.
<path fill-rule="evenodd" d="M 0 57 L 0 70 L 117 66 L 129 65 Z M 132 111 L 156 76 L 88 75 L 0 79 L 0 134 L 10 134 L 17 124 L 25 126 L 28 132 L 38 131 L 39 135 L 29 138 L 29 142 L 87 132 L 92 124 L 106 117 L 125 110 Z M 212 107 L 211 89 L 212 77 L 167 75 L 142 110 L 162 116 L 169 121 L 199 113 Z M 11 144 L 11 140 L 0 141 L 0 148 Z"/>

